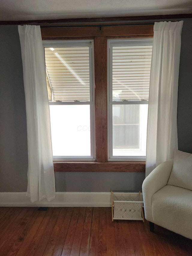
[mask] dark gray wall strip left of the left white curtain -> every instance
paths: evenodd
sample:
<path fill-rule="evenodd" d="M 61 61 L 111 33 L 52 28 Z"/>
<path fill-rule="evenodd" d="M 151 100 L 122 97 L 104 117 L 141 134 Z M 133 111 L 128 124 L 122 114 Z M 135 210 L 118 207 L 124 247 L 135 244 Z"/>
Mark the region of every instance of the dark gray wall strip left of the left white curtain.
<path fill-rule="evenodd" d="M 17 26 L 0 26 L 0 191 L 26 191 L 27 128 Z"/>

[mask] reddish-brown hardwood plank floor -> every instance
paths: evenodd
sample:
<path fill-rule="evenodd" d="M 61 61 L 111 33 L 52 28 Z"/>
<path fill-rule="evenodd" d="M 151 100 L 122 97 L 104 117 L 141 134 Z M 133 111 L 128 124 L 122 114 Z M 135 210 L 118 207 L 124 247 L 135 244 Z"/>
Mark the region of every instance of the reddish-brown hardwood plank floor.
<path fill-rule="evenodd" d="M 111 208 L 0 207 L 0 256 L 192 255 L 192 240 L 145 221 L 111 220 Z"/>

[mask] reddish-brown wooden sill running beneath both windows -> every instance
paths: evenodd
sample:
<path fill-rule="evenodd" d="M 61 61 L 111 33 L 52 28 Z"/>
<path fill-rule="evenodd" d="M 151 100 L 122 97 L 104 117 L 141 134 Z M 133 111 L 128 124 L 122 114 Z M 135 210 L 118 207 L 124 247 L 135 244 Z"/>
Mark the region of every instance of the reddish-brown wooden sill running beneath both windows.
<path fill-rule="evenodd" d="M 145 172 L 145 161 L 53 161 L 55 172 Z"/>

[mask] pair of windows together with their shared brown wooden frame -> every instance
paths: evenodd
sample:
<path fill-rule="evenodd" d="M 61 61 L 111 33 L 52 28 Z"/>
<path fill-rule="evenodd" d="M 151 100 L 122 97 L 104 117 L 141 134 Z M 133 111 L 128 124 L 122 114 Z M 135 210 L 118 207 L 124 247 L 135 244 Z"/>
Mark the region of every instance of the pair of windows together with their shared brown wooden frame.
<path fill-rule="evenodd" d="M 64 24 L 41 35 L 54 170 L 145 171 L 153 25 Z"/>

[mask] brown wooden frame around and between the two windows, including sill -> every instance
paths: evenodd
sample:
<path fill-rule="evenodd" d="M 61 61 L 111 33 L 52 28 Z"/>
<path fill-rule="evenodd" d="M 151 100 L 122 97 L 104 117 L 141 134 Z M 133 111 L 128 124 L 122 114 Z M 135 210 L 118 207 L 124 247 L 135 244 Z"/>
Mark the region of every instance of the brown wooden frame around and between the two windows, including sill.
<path fill-rule="evenodd" d="M 145 161 L 108 161 L 107 39 L 152 38 L 153 25 L 41 28 L 42 40 L 94 39 L 96 161 L 54 161 L 57 172 L 145 172 Z"/>

